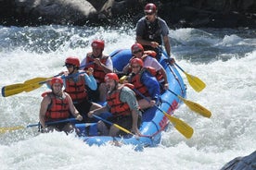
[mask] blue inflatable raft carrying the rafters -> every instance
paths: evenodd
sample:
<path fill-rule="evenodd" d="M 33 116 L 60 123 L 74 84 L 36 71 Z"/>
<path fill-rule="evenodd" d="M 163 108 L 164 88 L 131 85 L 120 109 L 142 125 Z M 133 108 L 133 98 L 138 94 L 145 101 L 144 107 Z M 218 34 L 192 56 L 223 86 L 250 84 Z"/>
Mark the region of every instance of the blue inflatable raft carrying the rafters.
<path fill-rule="evenodd" d="M 110 54 L 113 66 L 117 71 L 122 71 L 122 67 L 126 66 L 132 57 L 131 50 L 123 49 L 114 51 Z M 169 90 L 178 94 L 179 96 L 186 97 L 186 85 L 181 78 L 177 69 L 166 62 L 167 57 L 163 54 L 160 58 L 160 64 L 166 70 Z M 142 126 L 139 128 L 141 136 L 135 137 L 127 135 L 124 137 L 109 137 L 109 136 L 97 136 L 96 123 L 91 124 L 76 124 L 76 127 L 82 132 L 81 140 L 88 145 L 104 145 L 104 144 L 117 144 L 118 145 L 134 145 L 140 147 L 155 147 L 160 144 L 161 132 L 166 130 L 170 124 L 168 117 L 166 117 L 162 111 L 169 115 L 173 115 L 173 112 L 179 107 L 182 101 L 174 95 L 171 91 L 164 91 L 160 95 L 160 105 L 147 109 L 142 116 Z M 105 117 L 103 117 L 105 118 Z"/>

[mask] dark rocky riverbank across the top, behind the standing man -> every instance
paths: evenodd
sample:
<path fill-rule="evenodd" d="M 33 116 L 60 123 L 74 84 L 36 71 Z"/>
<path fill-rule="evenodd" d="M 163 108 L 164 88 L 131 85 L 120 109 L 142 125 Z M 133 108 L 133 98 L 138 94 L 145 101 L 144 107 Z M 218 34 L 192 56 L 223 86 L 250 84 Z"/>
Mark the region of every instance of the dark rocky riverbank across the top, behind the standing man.
<path fill-rule="evenodd" d="M 2 25 L 119 25 L 144 16 L 146 0 L 0 0 Z M 256 28 L 255 0 L 155 1 L 170 28 Z"/>

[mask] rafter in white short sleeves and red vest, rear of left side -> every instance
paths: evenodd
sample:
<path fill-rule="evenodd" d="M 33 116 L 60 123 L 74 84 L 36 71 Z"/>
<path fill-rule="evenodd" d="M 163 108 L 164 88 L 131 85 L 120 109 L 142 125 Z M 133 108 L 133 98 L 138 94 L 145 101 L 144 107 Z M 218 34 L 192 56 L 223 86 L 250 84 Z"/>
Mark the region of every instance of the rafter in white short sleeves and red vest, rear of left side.
<path fill-rule="evenodd" d="M 105 102 L 106 101 L 106 84 L 104 77 L 107 73 L 113 72 L 113 64 L 109 55 L 103 55 L 105 42 L 101 40 L 95 40 L 91 43 L 93 52 L 87 53 L 83 61 L 81 62 L 83 70 L 87 70 L 89 67 L 94 68 L 94 77 L 97 83 L 96 91 L 88 91 L 89 99 L 93 102 Z M 86 64 L 93 63 L 86 66 Z"/>

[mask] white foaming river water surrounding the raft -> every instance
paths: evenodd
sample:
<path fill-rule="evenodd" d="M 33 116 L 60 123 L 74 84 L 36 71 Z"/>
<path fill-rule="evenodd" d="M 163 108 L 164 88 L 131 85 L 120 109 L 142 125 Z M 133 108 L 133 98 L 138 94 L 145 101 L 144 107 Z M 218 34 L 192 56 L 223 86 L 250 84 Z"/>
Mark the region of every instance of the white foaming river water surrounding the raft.
<path fill-rule="evenodd" d="M 65 70 L 67 56 L 81 60 L 92 40 L 105 40 L 104 53 L 134 43 L 134 28 L 0 26 L 0 87 L 52 77 Z M 187 99 L 211 110 L 211 118 L 183 104 L 175 115 L 194 128 L 186 140 L 170 126 L 159 147 L 135 152 L 132 146 L 87 146 L 73 134 L 39 134 L 25 128 L 38 122 L 41 93 L 47 88 L 0 97 L 0 127 L 23 129 L 0 134 L 1 170 L 18 169 L 220 169 L 256 149 L 256 30 L 170 30 L 172 55 L 207 87 Z"/>

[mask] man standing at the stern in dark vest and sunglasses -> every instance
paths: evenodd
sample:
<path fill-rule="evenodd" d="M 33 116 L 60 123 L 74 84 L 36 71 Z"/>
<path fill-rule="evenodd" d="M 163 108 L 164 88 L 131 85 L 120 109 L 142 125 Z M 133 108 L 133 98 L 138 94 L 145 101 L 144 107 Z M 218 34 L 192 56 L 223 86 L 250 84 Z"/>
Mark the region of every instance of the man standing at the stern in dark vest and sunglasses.
<path fill-rule="evenodd" d="M 157 6 L 150 3 L 144 8 L 145 17 L 140 18 L 136 24 L 136 42 L 141 43 L 144 50 L 154 50 L 160 60 L 160 45 L 164 43 L 167 55 L 171 56 L 169 42 L 169 28 L 162 18 L 157 16 Z"/>

